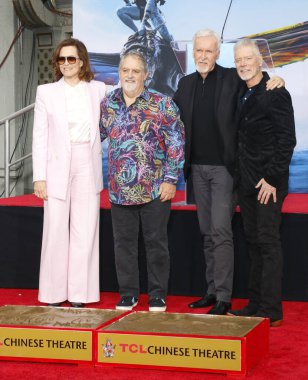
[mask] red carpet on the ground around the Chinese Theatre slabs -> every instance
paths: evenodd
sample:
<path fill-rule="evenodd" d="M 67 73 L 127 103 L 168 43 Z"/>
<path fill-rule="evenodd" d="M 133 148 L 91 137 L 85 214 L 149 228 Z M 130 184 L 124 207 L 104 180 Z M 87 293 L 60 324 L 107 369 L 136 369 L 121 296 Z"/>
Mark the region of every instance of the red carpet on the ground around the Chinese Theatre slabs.
<path fill-rule="evenodd" d="M 167 298 L 168 311 L 189 312 L 187 303 L 193 297 Z M 90 305 L 97 308 L 114 308 L 116 293 L 102 293 L 101 302 Z M 241 307 L 245 300 L 234 300 L 233 307 Z M 37 290 L 0 289 L 0 305 L 39 305 Z M 308 379 L 308 303 L 284 302 L 284 324 L 270 330 L 269 356 L 247 376 L 255 380 L 306 380 Z M 136 310 L 147 310 L 147 298 L 142 295 Z M 232 318 L 232 317 L 230 317 Z M 201 380 L 224 379 L 225 375 L 196 372 L 158 371 L 150 369 L 95 368 L 68 364 L 45 364 L 0 361 L 0 379 L 49 380 Z M 232 376 L 233 379 L 242 377 Z"/>

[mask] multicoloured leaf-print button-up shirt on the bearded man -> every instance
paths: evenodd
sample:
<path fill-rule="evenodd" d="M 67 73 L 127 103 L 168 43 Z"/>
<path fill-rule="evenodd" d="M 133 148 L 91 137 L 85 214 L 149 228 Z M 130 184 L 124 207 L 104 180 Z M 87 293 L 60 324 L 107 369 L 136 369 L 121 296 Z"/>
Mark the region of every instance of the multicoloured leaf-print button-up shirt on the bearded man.
<path fill-rule="evenodd" d="M 126 106 L 122 89 L 101 103 L 101 139 L 109 138 L 110 201 L 150 202 L 162 182 L 176 184 L 184 164 L 184 126 L 173 100 L 145 88 Z"/>

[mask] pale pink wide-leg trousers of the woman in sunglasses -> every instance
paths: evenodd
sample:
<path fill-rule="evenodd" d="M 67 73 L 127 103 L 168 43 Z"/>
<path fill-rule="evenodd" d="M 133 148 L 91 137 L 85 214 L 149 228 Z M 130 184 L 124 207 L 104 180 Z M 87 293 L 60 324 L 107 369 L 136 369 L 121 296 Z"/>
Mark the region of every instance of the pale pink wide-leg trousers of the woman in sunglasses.
<path fill-rule="evenodd" d="M 44 202 L 39 301 L 99 301 L 99 201 L 90 143 L 72 144 L 66 200 Z"/>

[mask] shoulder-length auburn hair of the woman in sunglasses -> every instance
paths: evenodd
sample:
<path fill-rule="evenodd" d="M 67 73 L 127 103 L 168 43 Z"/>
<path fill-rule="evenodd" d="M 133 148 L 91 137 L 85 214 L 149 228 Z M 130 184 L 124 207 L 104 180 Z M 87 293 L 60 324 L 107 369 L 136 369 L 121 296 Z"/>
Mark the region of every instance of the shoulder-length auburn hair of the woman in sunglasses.
<path fill-rule="evenodd" d="M 80 80 L 84 80 L 85 82 L 90 82 L 94 78 L 94 74 L 91 70 L 88 51 L 85 44 L 77 40 L 76 38 L 68 38 L 66 40 L 63 40 L 56 47 L 56 50 L 54 51 L 53 56 L 52 56 L 52 67 L 54 70 L 55 79 L 58 81 L 59 79 L 63 77 L 63 74 L 61 73 L 61 70 L 60 70 L 60 65 L 58 64 L 57 60 L 60 56 L 61 49 L 65 46 L 76 47 L 78 57 L 83 62 L 83 65 L 80 68 L 78 77 Z"/>

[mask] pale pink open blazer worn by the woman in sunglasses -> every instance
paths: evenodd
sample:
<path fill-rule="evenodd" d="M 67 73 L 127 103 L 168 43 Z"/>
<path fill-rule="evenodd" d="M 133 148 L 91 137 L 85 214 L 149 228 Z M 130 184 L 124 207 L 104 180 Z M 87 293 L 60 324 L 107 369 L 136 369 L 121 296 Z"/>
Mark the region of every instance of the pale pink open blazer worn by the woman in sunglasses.
<path fill-rule="evenodd" d="M 99 133 L 100 102 L 105 96 L 103 82 L 87 83 L 91 105 L 92 123 L 90 143 L 95 188 L 103 188 L 102 144 Z M 67 193 L 71 143 L 67 121 L 64 79 L 38 86 L 34 108 L 32 142 L 33 182 L 46 181 L 50 197 L 65 199 Z"/>

